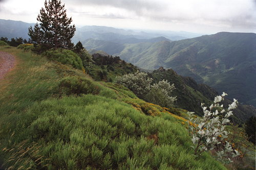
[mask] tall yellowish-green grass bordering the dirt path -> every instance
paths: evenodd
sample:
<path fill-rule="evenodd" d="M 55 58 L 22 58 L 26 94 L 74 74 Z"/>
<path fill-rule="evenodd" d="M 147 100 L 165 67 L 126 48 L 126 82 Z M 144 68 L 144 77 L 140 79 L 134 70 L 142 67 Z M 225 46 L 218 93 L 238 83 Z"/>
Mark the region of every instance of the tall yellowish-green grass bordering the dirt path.
<path fill-rule="evenodd" d="M 54 63 L 31 52 L 20 53 L 16 48 L 4 48 L 16 57 L 16 66 L 0 83 L 0 115 L 20 112 L 34 101 L 51 96 L 59 76 Z"/>

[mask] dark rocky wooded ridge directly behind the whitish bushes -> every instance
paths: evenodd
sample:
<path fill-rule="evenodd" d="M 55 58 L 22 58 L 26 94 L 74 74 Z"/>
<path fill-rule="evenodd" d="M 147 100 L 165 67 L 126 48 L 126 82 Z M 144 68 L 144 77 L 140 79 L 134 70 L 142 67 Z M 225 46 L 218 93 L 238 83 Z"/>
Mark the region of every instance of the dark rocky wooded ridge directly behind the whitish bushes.
<path fill-rule="evenodd" d="M 211 105 L 215 96 L 219 95 L 219 92 L 209 85 L 198 84 L 193 78 L 180 76 L 173 69 L 165 70 L 160 67 L 149 73 L 148 76 L 154 79 L 153 83 L 167 80 L 170 84 L 174 84 L 173 95 L 177 96 L 177 101 L 174 103 L 175 107 L 188 111 L 194 110 L 198 115 L 203 114 L 201 103 Z M 232 102 L 225 99 L 222 103 L 229 105 Z M 233 114 L 232 121 L 236 124 L 243 124 L 251 116 L 256 116 L 256 109 L 253 106 L 238 104 L 238 108 L 233 110 Z"/>

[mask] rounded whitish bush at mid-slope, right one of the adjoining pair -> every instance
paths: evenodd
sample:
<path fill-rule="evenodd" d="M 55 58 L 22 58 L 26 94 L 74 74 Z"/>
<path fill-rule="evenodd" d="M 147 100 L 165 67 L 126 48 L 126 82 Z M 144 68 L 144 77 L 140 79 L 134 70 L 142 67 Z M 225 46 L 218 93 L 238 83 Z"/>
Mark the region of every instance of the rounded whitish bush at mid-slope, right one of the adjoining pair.
<path fill-rule="evenodd" d="M 167 80 L 160 81 L 158 84 L 154 83 L 151 86 L 151 91 L 145 96 L 145 101 L 169 108 L 176 101 L 176 97 L 170 96 L 174 89 L 174 84 L 170 85 Z"/>

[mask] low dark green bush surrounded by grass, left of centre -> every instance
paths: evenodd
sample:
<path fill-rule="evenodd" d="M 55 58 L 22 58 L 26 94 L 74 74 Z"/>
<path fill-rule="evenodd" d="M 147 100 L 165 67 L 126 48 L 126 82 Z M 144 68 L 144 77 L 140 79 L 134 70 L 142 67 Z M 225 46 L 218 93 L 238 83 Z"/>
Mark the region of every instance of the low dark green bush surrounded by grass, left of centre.
<path fill-rule="evenodd" d="M 59 81 L 57 93 L 66 94 L 98 94 L 99 89 L 91 80 L 78 76 L 66 77 Z"/>

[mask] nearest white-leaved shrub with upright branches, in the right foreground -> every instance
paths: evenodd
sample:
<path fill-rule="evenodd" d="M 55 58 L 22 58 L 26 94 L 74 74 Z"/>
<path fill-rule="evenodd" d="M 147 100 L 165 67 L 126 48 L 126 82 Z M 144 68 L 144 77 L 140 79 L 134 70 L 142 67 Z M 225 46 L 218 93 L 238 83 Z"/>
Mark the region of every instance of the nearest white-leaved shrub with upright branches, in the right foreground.
<path fill-rule="evenodd" d="M 231 109 L 237 107 L 237 100 L 233 100 L 233 103 L 229 105 L 227 109 L 227 113 L 221 119 L 218 116 L 218 109 L 221 108 L 220 113 L 223 114 L 225 109 L 223 105 L 219 105 L 219 102 L 224 100 L 224 96 L 227 95 L 223 92 L 222 95 L 216 96 L 214 100 L 214 104 L 209 107 L 204 107 L 204 104 L 201 104 L 204 112 L 204 116 L 202 118 L 194 118 L 194 112 L 188 112 L 188 131 L 189 135 L 191 135 L 191 140 L 193 141 L 193 145 L 191 146 L 195 150 L 195 156 L 200 156 L 204 151 L 214 150 L 218 144 L 221 144 L 223 141 L 226 142 L 223 149 L 221 151 L 217 151 L 217 160 L 223 163 L 232 162 L 228 155 L 232 155 L 232 157 L 239 156 L 240 153 L 237 150 L 233 150 L 230 143 L 225 139 L 228 137 L 229 132 L 225 131 L 225 125 L 229 123 L 228 117 L 233 115 Z M 216 111 L 212 111 L 212 109 L 216 108 Z"/>

